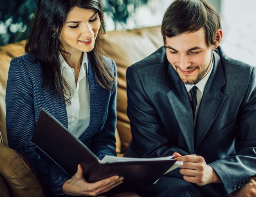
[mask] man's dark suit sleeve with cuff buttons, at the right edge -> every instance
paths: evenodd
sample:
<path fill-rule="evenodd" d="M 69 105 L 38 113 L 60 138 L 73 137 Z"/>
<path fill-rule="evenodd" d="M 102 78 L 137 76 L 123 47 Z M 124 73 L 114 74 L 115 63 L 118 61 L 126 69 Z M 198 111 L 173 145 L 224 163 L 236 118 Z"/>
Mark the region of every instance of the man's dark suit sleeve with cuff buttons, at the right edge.
<path fill-rule="evenodd" d="M 252 69 L 237 118 L 236 155 L 209 164 L 220 176 L 227 195 L 256 175 L 256 71 Z"/>

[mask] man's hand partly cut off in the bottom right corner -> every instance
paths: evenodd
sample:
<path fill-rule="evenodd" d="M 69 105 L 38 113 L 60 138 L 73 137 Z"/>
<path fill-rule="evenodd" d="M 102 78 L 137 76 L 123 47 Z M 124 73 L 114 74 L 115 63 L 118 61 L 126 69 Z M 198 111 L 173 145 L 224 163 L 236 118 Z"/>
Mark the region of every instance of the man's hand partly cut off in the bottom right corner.
<path fill-rule="evenodd" d="M 229 194 L 229 197 L 255 197 L 256 196 L 256 176 L 251 177 L 239 190 Z"/>

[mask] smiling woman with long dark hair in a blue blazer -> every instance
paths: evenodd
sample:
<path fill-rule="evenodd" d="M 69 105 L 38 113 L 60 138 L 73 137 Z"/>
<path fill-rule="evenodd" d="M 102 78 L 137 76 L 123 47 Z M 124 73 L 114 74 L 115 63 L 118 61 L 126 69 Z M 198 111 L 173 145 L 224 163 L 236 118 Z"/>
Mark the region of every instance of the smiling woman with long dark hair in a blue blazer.
<path fill-rule="evenodd" d="M 117 69 L 102 55 L 103 33 L 100 0 L 39 0 L 26 54 L 11 61 L 6 93 L 9 146 L 27 157 L 49 195 L 95 196 L 123 182 L 113 176 L 88 183 L 81 165 L 69 177 L 31 142 L 44 108 L 99 159 L 116 155 Z"/>

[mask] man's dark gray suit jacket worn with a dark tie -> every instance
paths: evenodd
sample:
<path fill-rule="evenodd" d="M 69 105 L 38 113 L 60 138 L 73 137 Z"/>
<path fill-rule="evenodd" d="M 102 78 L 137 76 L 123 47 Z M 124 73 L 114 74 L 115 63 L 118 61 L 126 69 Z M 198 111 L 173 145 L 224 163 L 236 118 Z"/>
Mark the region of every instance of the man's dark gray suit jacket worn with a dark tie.
<path fill-rule="evenodd" d="M 213 57 L 195 128 L 188 93 L 164 47 L 128 68 L 126 156 L 200 155 L 229 194 L 256 175 L 256 68 L 220 47 Z"/>

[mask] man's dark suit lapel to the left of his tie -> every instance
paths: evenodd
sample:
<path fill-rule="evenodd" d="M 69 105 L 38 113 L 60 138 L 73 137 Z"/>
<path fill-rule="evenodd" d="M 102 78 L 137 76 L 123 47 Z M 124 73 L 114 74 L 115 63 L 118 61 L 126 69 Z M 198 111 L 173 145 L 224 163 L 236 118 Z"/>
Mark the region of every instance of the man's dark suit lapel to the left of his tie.
<path fill-rule="evenodd" d="M 167 92 L 168 100 L 188 146 L 189 153 L 192 154 L 194 150 L 194 126 L 193 118 L 191 118 L 193 113 L 189 95 L 171 64 L 168 66 L 166 82 L 171 86 L 171 90 Z"/>

